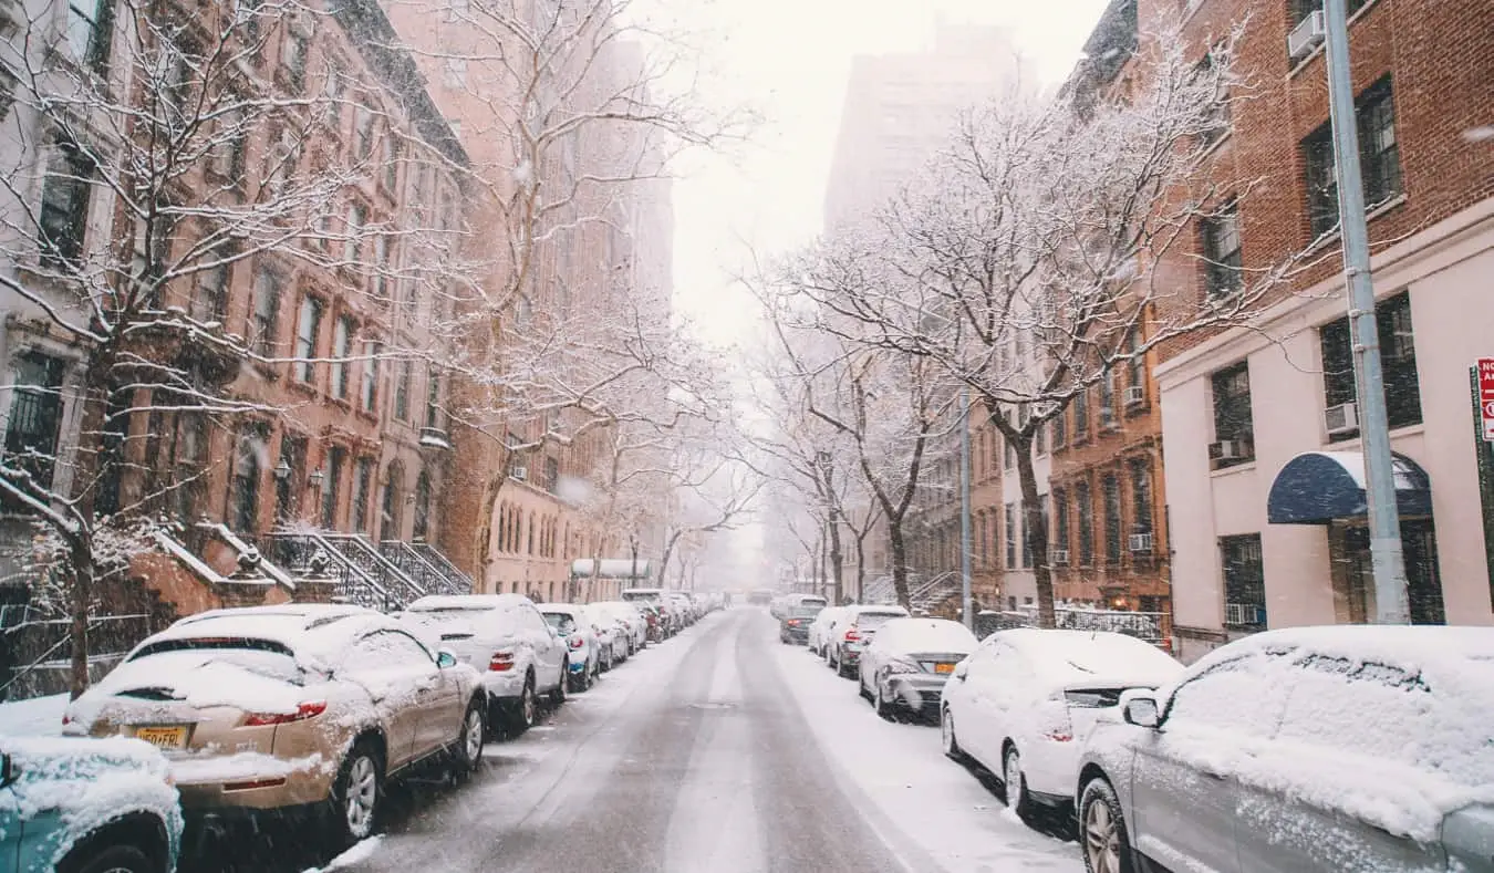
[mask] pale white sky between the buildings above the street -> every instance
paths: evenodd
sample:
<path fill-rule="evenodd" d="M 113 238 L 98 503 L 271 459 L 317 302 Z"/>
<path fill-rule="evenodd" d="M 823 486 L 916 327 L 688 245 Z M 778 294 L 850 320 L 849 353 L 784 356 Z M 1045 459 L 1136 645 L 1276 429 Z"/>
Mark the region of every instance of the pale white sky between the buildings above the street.
<path fill-rule="evenodd" d="M 701 155 L 674 187 L 675 306 L 717 344 L 744 336 L 753 308 L 731 275 L 748 247 L 789 250 L 819 233 L 850 61 L 932 42 L 935 15 L 1001 24 L 1047 81 L 1073 67 L 1104 0 L 705 0 L 719 78 L 710 99 L 748 103 L 765 124 L 740 154 Z"/>

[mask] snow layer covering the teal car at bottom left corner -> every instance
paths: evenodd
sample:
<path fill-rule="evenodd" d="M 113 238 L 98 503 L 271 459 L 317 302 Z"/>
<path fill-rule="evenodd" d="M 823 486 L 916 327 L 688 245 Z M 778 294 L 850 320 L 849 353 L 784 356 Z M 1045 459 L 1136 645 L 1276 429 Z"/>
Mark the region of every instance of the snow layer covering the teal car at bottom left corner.
<path fill-rule="evenodd" d="M 63 827 L 45 839 L 52 864 L 93 830 L 131 812 L 158 816 L 178 840 L 182 815 L 167 779 L 166 758 L 140 740 L 0 737 L 16 780 L 0 792 L 0 821 L 55 813 Z M 0 833 L 0 842 L 13 839 Z"/>

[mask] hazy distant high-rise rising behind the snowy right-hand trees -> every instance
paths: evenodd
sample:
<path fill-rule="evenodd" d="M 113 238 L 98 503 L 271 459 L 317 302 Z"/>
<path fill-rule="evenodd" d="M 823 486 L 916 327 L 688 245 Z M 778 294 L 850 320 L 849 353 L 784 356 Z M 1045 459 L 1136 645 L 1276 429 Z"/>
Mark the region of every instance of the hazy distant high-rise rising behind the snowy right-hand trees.
<path fill-rule="evenodd" d="M 1005 30 L 943 21 L 931 49 L 853 58 L 825 196 L 826 230 L 895 194 L 947 141 L 959 114 L 996 96 L 1016 70 Z"/>

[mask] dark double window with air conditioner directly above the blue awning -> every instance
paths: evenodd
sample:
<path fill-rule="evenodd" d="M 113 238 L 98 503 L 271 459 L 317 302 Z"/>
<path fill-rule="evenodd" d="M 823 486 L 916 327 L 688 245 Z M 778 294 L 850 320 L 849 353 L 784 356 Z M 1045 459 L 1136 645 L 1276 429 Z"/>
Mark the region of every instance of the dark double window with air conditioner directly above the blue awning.
<path fill-rule="evenodd" d="M 1416 378 L 1416 342 L 1410 326 L 1410 294 L 1401 291 L 1374 305 L 1376 332 L 1380 339 L 1380 371 L 1385 375 L 1385 404 L 1391 428 L 1421 423 L 1421 384 Z M 1318 333 L 1322 345 L 1324 404 L 1328 408 L 1352 404 L 1358 398 L 1354 380 L 1354 338 L 1349 318 L 1325 324 Z M 1358 431 L 1330 434 L 1330 441 L 1349 439 Z"/>

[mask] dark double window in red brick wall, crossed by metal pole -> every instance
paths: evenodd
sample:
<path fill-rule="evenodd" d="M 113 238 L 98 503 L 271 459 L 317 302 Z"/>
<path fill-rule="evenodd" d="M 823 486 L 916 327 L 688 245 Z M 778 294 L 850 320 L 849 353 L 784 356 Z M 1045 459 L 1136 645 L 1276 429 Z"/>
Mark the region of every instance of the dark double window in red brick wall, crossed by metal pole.
<path fill-rule="evenodd" d="M 1389 76 L 1370 85 L 1354 102 L 1360 132 L 1360 167 L 1364 206 L 1373 209 L 1401 193 L 1400 146 L 1395 141 L 1395 100 Z M 1339 182 L 1333 157 L 1333 124 L 1325 123 L 1303 141 L 1307 166 L 1307 214 L 1313 236 L 1339 226 Z"/>

